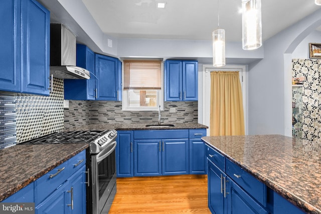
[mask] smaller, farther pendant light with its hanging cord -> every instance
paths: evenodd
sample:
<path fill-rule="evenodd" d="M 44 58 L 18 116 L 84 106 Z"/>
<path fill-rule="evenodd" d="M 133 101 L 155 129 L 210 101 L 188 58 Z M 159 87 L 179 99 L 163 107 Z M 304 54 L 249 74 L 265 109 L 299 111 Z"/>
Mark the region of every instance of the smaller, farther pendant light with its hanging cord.
<path fill-rule="evenodd" d="M 225 30 L 220 29 L 220 8 L 218 0 L 218 29 L 213 31 L 213 66 L 221 67 L 225 65 Z"/>

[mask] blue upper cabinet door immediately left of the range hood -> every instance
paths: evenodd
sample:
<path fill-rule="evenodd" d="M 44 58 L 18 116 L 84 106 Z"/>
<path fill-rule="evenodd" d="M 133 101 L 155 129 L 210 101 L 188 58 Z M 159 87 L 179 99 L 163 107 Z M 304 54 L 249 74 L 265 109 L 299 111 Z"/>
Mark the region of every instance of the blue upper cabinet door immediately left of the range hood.
<path fill-rule="evenodd" d="M 21 4 L 22 92 L 49 95 L 50 13 L 35 0 Z"/>

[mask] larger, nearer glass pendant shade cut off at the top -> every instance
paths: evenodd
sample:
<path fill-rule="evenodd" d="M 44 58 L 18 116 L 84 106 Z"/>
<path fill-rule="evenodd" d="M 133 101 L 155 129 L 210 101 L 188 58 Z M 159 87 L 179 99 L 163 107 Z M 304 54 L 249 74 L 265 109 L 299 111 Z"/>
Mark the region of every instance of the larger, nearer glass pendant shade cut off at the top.
<path fill-rule="evenodd" d="M 242 0 L 242 44 L 244 50 L 262 46 L 261 0 Z"/>

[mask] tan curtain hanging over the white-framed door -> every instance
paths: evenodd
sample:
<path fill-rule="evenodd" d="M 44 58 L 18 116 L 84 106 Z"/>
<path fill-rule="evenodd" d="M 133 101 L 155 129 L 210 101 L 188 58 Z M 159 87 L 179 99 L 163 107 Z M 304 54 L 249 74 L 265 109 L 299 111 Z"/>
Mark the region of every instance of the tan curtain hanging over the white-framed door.
<path fill-rule="evenodd" d="M 210 135 L 244 135 L 239 72 L 211 72 Z"/>

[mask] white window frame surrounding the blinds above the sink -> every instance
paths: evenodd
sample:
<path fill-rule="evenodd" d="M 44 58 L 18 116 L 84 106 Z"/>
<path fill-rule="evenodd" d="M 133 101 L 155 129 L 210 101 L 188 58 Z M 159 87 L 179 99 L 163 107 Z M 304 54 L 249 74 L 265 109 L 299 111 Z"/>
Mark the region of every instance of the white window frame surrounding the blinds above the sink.
<path fill-rule="evenodd" d="M 124 64 L 121 66 L 121 75 L 124 76 Z M 129 107 L 129 97 L 127 90 L 124 90 L 124 78 L 122 78 L 121 90 L 122 90 L 122 110 L 123 111 L 158 111 L 158 105 L 161 105 L 161 110 L 164 110 L 164 62 L 161 62 L 161 79 L 162 88 L 157 92 L 157 106 L 156 107 Z"/>

